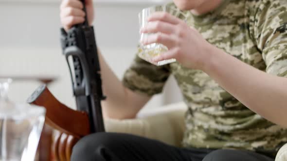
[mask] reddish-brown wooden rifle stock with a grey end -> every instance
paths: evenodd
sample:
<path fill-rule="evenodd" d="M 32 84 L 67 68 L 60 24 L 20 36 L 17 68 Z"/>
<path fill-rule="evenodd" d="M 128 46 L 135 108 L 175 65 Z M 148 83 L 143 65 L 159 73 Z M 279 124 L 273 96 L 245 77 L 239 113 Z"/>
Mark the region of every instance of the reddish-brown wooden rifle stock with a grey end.
<path fill-rule="evenodd" d="M 46 108 L 45 122 L 51 127 L 76 138 L 90 134 L 88 114 L 72 110 L 59 102 L 46 85 L 38 87 L 27 102 Z"/>

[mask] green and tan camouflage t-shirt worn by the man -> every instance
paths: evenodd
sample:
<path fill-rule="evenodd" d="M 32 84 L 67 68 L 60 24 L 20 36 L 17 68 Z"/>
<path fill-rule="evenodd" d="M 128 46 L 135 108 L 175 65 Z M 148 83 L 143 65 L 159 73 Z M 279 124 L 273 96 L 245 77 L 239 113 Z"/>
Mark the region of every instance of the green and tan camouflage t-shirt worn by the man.
<path fill-rule="evenodd" d="M 287 0 L 223 0 L 211 13 L 184 13 L 187 24 L 217 48 L 269 74 L 287 77 Z M 170 75 L 176 78 L 189 107 L 185 147 L 236 148 L 275 155 L 287 142 L 287 129 L 253 113 L 200 70 L 179 63 L 155 66 L 136 57 L 123 83 L 152 96 L 161 93 Z"/>

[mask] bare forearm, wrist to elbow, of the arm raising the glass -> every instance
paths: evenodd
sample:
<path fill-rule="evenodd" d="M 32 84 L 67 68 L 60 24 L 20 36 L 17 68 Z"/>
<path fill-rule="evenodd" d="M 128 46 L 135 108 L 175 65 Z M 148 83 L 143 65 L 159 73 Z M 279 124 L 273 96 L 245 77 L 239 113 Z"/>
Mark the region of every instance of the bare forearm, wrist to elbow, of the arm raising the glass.
<path fill-rule="evenodd" d="M 204 72 L 245 106 L 287 127 L 287 79 L 269 75 L 215 47 Z"/>

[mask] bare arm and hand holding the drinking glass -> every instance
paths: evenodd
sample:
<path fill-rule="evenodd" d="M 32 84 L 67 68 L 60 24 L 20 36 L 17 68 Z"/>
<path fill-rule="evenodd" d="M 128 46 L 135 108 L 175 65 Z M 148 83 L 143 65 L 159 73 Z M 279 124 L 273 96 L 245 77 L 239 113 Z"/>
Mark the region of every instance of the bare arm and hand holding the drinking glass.
<path fill-rule="evenodd" d="M 149 36 L 143 44 L 162 43 L 169 48 L 166 53 L 155 58 L 155 62 L 175 58 L 188 68 L 203 70 L 252 111 L 287 127 L 287 78 L 272 76 L 241 62 L 208 43 L 196 29 L 190 28 L 174 16 L 156 13 L 149 20 L 156 23 L 150 23 L 142 29 L 142 32 L 163 32 L 164 34 Z M 274 44 L 270 48 L 285 48 L 286 36 L 284 37 L 284 34 L 281 37 L 278 34 L 273 36 L 271 39 Z M 278 40 L 275 41 L 275 38 Z M 283 42 L 283 44 L 278 45 L 276 42 Z M 281 56 L 285 60 L 284 63 L 281 62 L 285 70 L 286 52 L 287 50 L 283 49 L 276 50 L 277 59 Z M 274 57 L 274 51 L 272 54 L 271 56 Z M 265 55 L 268 55 L 268 52 Z M 269 59 L 266 58 L 266 60 Z M 279 62 L 273 62 L 273 64 L 279 64 Z"/>

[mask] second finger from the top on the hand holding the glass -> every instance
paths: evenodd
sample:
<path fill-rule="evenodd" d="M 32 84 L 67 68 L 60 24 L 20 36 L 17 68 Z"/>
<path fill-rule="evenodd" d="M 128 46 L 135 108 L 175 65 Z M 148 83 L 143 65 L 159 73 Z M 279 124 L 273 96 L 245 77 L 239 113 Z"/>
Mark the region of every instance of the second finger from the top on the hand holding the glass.
<path fill-rule="evenodd" d="M 161 32 L 161 33 L 166 33 L 166 34 L 171 34 L 175 32 L 175 25 L 172 25 L 167 22 L 163 21 L 152 21 L 149 22 L 142 30 L 142 33 L 156 33 L 156 32 Z"/>

